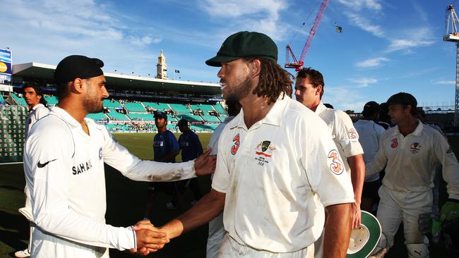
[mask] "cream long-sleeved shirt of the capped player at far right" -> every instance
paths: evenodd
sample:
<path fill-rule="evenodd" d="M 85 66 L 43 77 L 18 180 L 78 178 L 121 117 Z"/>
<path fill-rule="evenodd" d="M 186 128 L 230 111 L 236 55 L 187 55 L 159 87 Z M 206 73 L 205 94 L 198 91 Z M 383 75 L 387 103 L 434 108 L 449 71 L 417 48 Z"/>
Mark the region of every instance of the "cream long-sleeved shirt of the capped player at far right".
<path fill-rule="evenodd" d="M 450 198 L 459 199 L 459 164 L 453 149 L 434 128 L 419 120 L 415 130 L 403 136 L 398 125 L 386 130 L 375 158 L 366 164 L 366 174 L 386 166 L 383 185 L 398 192 L 425 192 L 434 187 L 436 164 L 443 166 L 443 179 Z"/>

